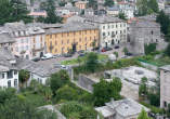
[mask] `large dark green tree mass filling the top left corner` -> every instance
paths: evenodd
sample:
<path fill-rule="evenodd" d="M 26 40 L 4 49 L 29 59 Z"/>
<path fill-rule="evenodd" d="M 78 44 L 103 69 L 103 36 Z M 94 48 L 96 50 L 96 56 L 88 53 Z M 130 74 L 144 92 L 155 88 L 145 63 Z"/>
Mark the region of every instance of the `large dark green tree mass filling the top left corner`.
<path fill-rule="evenodd" d="M 24 21 L 32 22 L 32 17 L 28 16 L 27 6 L 21 0 L 0 0 L 0 25 Z"/>

